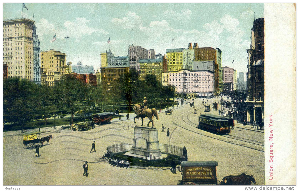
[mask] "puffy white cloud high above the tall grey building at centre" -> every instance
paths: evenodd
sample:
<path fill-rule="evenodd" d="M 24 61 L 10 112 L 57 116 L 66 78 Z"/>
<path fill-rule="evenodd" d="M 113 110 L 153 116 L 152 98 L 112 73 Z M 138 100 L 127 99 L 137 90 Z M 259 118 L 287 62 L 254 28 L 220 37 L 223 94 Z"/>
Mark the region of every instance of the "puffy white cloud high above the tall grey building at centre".
<path fill-rule="evenodd" d="M 118 25 L 122 29 L 133 29 L 142 25 L 141 17 L 135 12 L 128 12 L 123 18 L 112 18 L 112 23 Z"/>

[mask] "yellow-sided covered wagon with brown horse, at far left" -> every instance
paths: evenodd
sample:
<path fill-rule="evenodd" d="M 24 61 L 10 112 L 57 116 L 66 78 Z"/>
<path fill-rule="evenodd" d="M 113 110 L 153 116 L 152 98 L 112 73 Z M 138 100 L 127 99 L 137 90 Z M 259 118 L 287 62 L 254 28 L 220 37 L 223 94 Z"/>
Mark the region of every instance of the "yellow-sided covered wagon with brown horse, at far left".
<path fill-rule="evenodd" d="M 52 139 L 52 135 L 42 137 L 41 139 L 39 139 L 40 134 L 46 132 L 36 131 L 36 132 L 31 132 L 23 135 L 23 148 L 33 149 L 35 147 L 42 147 L 45 141 L 47 141 L 49 145 L 49 140 Z"/>

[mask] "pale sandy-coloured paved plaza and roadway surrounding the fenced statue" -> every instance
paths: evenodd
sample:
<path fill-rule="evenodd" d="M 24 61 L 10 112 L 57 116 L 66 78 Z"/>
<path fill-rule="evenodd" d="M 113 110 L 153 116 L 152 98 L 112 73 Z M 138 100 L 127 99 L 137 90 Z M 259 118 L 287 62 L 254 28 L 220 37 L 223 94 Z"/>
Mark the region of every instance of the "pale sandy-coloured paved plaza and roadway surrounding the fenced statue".
<path fill-rule="evenodd" d="M 211 105 L 218 99 L 208 100 Z M 251 126 L 236 124 L 228 135 L 219 135 L 196 128 L 198 116 L 204 113 L 202 99 L 194 100 L 194 108 L 187 105 L 175 106 L 173 115 L 165 115 L 165 109 L 154 119 L 158 129 L 160 143 L 186 147 L 188 161 L 216 161 L 217 178 L 246 173 L 254 175 L 256 184 L 264 184 L 264 133 Z M 218 114 L 217 114 L 218 115 Z M 4 185 L 176 185 L 181 179 L 180 172 L 173 174 L 169 168 L 120 168 L 110 166 L 101 159 L 106 146 L 123 142 L 132 142 L 135 125 L 129 119 L 115 118 L 110 124 L 96 126 L 89 131 L 62 130 L 60 127 L 42 128 L 50 131 L 42 136 L 52 135 L 49 145 L 39 149 L 40 157 L 35 157 L 35 150 L 22 147 L 20 131 L 4 132 L 3 136 L 3 184 Z M 148 119 L 144 119 L 147 124 Z M 235 122 L 236 123 L 236 122 Z M 170 136 L 162 132 L 162 124 L 170 128 Z M 238 128 L 239 127 L 239 128 Z M 32 130 L 33 131 L 33 130 Z M 29 131 L 28 131 L 29 132 Z M 28 133 L 26 132 L 26 133 Z M 90 153 L 95 141 L 97 152 Z M 88 161 L 89 176 L 83 176 L 82 165 Z"/>

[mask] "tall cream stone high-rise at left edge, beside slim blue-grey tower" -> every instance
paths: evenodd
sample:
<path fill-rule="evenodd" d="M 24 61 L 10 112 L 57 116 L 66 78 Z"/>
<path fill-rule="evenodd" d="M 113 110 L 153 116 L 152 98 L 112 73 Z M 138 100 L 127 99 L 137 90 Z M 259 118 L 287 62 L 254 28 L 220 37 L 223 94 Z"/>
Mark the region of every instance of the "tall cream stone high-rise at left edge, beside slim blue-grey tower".
<path fill-rule="evenodd" d="M 34 80 L 33 24 L 26 18 L 3 21 L 3 64 L 7 77 Z"/>

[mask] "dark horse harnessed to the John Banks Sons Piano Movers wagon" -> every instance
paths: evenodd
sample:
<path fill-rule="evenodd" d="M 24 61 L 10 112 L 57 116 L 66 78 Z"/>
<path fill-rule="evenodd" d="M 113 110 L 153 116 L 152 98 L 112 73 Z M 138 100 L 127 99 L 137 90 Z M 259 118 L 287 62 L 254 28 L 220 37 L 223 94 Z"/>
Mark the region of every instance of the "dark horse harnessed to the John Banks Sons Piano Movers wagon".
<path fill-rule="evenodd" d="M 245 173 L 242 173 L 237 176 L 225 176 L 222 178 L 222 182 L 220 182 L 221 185 L 251 185 L 251 182 L 255 184 L 255 179 L 253 178 L 253 175 L 246 175 Z"/>

